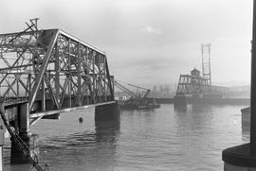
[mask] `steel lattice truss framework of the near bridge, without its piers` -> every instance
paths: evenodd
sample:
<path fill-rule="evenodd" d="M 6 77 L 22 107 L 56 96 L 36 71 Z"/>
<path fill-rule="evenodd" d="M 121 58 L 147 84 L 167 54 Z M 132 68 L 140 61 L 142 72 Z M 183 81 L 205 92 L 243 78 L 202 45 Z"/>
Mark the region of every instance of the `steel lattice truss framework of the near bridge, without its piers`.
<path fill-rule="evenodd" d="M 27 101 L 29 113 L 114 100 L 104 52 L 61 29 L 27 26 L 0 35 L 2 98 Z"/>

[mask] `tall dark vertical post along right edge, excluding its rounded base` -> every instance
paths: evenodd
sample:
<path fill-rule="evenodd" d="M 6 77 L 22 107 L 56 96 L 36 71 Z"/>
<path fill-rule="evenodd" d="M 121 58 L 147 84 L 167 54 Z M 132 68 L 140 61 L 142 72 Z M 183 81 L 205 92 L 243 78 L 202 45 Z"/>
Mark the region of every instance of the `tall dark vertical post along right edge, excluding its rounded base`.
<path fill-rule="evenodd" d="M 250 82 L 250 155 L 256 156 L 256 3 L 253 1 Z"/>

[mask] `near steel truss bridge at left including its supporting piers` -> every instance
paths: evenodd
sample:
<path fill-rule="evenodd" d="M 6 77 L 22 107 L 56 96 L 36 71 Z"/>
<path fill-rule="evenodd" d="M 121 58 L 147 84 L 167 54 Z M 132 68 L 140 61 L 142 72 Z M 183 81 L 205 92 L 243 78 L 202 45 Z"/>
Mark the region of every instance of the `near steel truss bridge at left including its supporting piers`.
<path fill-rule="evenodd" d="M 31 125 L 64 111 L 96 107 L 95 121 L 119 121 L 106 54 L 61 29 L 39 30 L 37 20 L 0 34 L 0 102 L 8 127 L 29 145 Z M 11 141 L 11 162 L 26 162 L 16 144 Z"/>

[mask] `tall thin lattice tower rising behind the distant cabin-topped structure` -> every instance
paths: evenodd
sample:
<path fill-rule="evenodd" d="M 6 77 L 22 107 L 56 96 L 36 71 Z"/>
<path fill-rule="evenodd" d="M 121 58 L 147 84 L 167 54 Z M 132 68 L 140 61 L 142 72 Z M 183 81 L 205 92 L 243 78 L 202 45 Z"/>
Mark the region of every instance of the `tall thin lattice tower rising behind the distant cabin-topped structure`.
<path fill-rule="evenodd" d="M 211 75 L 210 75 L 210 43 L 203 43 L 201 45 L 202 52 L 202 77 L 209 80 L 211 86 Z"/>

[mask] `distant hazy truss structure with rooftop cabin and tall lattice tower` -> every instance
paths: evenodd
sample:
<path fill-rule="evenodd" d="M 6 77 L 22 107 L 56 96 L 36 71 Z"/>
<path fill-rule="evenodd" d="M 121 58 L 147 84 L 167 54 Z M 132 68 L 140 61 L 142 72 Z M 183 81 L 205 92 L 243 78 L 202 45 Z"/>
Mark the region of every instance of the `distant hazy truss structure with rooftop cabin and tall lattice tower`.
<path fill-rule="evenodd" d="M 193 69 L 191 75 L 180 75 L 174 104 L 186 105 L 187 100 L 201 99 L 204 97 L 220 98 L 229 88 L 211 85 L 210 71 L 210 43 L 201 45 L 202 51 L 202 74 L 199 70 Z"/>

